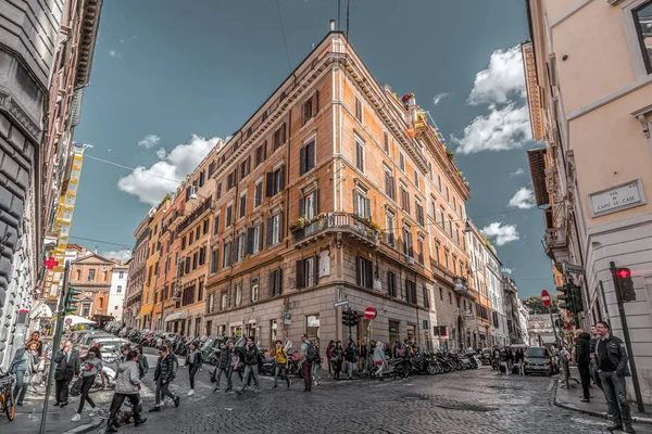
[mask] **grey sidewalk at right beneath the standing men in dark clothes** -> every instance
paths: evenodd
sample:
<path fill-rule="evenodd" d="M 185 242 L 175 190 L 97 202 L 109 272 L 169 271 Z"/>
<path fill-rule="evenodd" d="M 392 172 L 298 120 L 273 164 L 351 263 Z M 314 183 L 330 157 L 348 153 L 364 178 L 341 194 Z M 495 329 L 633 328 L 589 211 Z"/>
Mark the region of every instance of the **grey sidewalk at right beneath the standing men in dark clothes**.
<path fill-rule="evenodd" d="M 570 367 L 570 378 L 579 381 L 579 372 L 576 367 Z M 563 379 L 563 374 L 560 375 L 560 380 Z M 593 385 L 590 388 L 591 401 L 580 403 L 581 398 L 581 385 L 570 381 L 570 390 L 562 387 L 565 383 L 556 381 L 556 393 L 554 396 L 554 405 L 557 407 L 565 408 L 567 410 L 580 411 L 586 414 L 595 416 L 599 418 L 607 419 L 606 416 L 606 399 L 602 391 Z M 575 387 L 573 387 L 575 385 Z M 629 397 L 631 399 L 631 396 Z M 652 424 L 652 409 L 645 408 L 645 413 L 639 413 L 636 411 L 636 403 L 631 403 L 631 417 L 635 423 L 649 423 Z"/>

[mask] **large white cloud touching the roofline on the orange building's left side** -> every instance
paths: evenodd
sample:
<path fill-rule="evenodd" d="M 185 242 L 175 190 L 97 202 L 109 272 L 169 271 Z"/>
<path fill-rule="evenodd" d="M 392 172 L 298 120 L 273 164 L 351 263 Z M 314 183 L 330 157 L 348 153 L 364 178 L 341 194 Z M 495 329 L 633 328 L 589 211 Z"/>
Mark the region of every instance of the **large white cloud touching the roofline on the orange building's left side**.
<path fill-rule="evenodd" d="M 192 135 L 188 143 L 178 144 L 149 168 L 136 167 L 131 174 L 117 181 L 117 188 L 138 196 L 142 203 L 158 205 L 165 194 L 177 188 L 186 175 L 195 170 L 213 146 L 221 146 L 223 143 L 216 137 L 204 139 Z"/>

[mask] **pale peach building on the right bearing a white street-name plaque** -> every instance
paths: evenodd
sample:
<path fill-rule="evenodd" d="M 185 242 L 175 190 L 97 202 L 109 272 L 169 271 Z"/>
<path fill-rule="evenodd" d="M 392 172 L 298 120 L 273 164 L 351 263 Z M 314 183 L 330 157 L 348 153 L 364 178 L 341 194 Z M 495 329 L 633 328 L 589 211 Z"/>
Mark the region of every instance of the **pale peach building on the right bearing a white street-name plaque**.
<path fill-rule="evenodd" d="M 652 403 L 652 50 L 650 0 L 529 0 L 523 44 L 537 203 L 559 271 L 584 273 L 579 324 L 609 320 L 623 336 L 610 264 L 631 270 L 626 303 L 643 400 Z M 536 154 L 536 155 L 535 155 Z M 549 205 L 549 206 L 548 206 Z"/>

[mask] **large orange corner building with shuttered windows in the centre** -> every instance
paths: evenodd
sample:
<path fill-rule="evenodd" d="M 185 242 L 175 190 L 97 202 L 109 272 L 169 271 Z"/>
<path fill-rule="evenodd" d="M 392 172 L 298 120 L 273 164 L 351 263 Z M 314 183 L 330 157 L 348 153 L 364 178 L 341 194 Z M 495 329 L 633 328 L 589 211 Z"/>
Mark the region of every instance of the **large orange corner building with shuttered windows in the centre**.
<path fill-rule="evenodd" d="M 432 327 L 454 329 L 471 302 L 453 284 L 468 186 L 414 95 L 380 87 L 341 33 L 209 158 L 210 333 L 325 346 L 349 336 L 334 307 L 348 299 L 378 312 L 354 340 L 457 345 Z"/>

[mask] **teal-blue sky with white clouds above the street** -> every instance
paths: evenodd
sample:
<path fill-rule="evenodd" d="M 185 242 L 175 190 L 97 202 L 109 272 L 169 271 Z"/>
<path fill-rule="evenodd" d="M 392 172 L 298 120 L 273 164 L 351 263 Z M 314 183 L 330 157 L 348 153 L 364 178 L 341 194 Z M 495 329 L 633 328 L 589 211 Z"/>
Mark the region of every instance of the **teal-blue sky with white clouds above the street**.
<path fill-rule="evenodd" d="M 285 80 L 327 34 L 337 7 L 337 0 L 104 2 L 74 137 L 92 148 L 71 241 L 128 257 L 147 212 Z M 414 92 L 430 113 L 471 183 L 467 215 L 496 246 L 521 296 L 554 289 L 526 155 L 541 143 L 531 141 L 525 99 L 525 2 L 350 0 L 349 39 L 380 84 L 399 95 Z"/>

